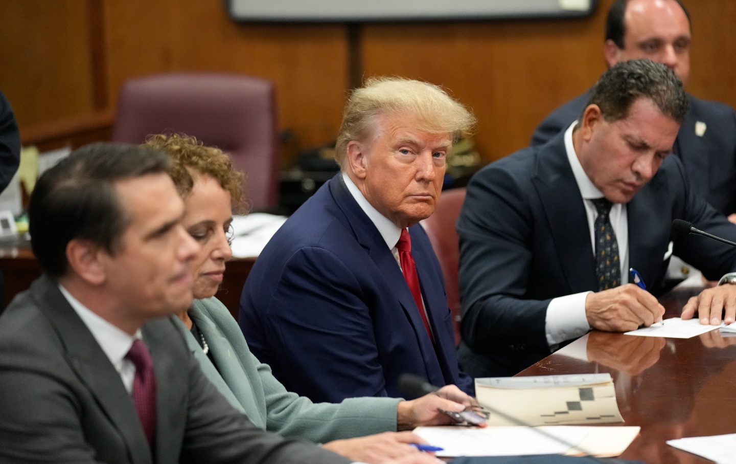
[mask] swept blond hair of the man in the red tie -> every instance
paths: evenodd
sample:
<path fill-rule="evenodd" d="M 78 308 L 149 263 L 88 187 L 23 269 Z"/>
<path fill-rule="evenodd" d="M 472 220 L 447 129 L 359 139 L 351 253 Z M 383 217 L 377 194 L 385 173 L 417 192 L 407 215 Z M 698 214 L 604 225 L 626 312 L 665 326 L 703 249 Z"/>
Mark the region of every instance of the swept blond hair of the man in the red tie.
<path fill-rule="evenodd" d="M 375 116 L 411 120 L 425 133 L 452 134 L 453 143 L 470 135 L 475 116 L 438 85 L 403 77 L 371 77 L 350 93 L 337 136 L 335 159 L 344 169 L 347 144 L 365 140 L 375 126 Z"/>

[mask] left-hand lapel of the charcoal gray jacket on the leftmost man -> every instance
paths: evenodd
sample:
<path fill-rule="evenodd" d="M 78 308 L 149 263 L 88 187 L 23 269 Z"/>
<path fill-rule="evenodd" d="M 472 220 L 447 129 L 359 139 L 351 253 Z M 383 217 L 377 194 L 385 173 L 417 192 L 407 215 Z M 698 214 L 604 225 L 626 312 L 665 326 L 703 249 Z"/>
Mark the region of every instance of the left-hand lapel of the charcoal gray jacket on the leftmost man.
<path fill-rule="evenodd" d="M 151 463 L 148 441 L 132 401 L 121 401 L 121 398 L 130 398 L 130 395 L 125 390 L 120 374 L 85 323 L 69 306 L 57 284 L 44 275 L 33 284 L 32 298 L 57 331 L 66 348 L 71 368 L 96 398 L 121 439 L 127 443 L 130 462 Z"/>

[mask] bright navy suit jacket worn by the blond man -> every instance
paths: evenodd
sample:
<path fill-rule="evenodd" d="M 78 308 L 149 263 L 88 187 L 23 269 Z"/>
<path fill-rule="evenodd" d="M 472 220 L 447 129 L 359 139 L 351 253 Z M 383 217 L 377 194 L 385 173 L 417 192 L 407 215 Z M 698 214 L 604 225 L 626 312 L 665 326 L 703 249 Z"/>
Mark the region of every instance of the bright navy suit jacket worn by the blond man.
<path fill-rule="evenodd" d="M 436 348 L 391 250 L 341 175 L 271 239 L 248 276 L 239 322 L 287 390 L 330 402 L 401 396 L 402 373 L 473 390 L 458 370 L 439 263 L 421 226 L 409 233 Z"/>

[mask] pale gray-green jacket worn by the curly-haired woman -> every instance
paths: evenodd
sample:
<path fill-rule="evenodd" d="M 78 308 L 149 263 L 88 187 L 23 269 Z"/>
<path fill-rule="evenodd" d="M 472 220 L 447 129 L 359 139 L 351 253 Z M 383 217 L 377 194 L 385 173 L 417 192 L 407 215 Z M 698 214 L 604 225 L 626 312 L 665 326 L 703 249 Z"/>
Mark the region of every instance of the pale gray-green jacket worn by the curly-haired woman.
<path fill-rule="evenodd" d="M 255 426 L 319 443 L 396 430 L 397 398 L 312 403 L 305 396 L 286 391 L 269 365 L 250 352 L 238 323 L 217 298 L 194 300 L 189 317 L 205 336 L 217 365 L 215 368 L 191 331 L 177 319 L 202 372 Z"/>

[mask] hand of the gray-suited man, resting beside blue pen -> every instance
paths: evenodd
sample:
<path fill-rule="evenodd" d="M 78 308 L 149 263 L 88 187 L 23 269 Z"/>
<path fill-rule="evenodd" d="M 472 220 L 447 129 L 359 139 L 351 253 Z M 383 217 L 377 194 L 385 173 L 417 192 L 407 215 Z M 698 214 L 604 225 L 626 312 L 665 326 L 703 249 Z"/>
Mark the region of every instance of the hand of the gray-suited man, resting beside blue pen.
<path fill-rule="evenodd" d="M 426 444 L 411 432 L 383 432 L 367 437 L 330 441 L 322 447 L 348 459 L 368 464 L 383 464 L 393 460 L 404 464 L 436 462 L 434 455 L 422 453 L 409 443 Z"/>

